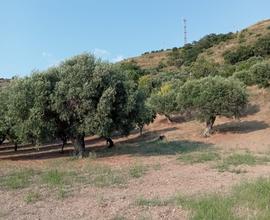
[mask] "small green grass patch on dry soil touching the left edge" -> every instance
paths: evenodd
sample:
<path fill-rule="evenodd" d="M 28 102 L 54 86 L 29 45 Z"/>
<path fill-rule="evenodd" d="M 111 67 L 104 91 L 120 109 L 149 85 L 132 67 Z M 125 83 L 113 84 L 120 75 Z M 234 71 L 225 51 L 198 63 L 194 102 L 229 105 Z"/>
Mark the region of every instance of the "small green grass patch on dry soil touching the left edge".
<path fill-rule="evenodd" d="M 0 177 L 0 186 L 8 190 L 22 189 L 30 186 L 34 172 L 22 169 Z"/>

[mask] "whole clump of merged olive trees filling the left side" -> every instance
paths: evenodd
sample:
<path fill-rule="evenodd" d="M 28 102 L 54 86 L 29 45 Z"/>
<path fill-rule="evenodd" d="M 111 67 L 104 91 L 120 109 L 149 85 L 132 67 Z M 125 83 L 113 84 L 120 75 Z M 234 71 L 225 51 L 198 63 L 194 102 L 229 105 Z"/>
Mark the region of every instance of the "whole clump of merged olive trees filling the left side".
<path fill-rule="evenodd" d="M 126 69 L 82 54 L 44 72 L 15 79 L 3 89 L 1 138 L 43 144 L 70 139 L 76 155 L 85 151 L 85 135 L 127 135 L 152 120 L 141 91 Z"/>

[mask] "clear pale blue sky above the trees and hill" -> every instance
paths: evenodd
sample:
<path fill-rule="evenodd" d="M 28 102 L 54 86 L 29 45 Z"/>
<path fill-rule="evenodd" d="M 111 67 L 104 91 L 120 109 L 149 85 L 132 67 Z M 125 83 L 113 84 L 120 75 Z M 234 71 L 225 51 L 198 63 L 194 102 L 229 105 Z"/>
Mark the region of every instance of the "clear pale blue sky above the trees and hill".
<path fill-rule="evenodd" d="M 0 0 L 0 78 L 89 52 L 110 62 L 270 17 L 269 0 Z"/>

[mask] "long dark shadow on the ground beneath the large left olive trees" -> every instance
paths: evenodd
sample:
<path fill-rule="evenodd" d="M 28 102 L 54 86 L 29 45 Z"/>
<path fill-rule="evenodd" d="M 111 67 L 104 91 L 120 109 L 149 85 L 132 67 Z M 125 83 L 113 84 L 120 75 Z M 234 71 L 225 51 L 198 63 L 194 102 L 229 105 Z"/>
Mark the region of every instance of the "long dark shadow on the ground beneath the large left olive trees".
<path fill-rule="evenodd" d="M 174 130 L 175 128 L 161 129 L 154 132 L 146 132 L 143 136 L 136 136 L 127 140 L 117 141 L 113 148 L 107 148 L 102 138 L 93 138 L 87 140 L 87 151 L 96 153 L 97 157 L 109 157 L 117 155 L 132 156 L 157 156 L 157 155 L 175 155 L 178 153 L 192 152 L 196 150 L 207 149 L 211 144 L 194 141 L 166 141 L 159 140 L 161 132 Z M 48 146 L 46 146 L 48 147 Z M 42 147 L 41 147 L 42 148 Z M 44 148 L 45 149 L 45 148 Z M 59 145 L 52 145 L 51 151 L 33 150 L 27 154 L 7 155 L 0 157 L 2 160 L 39 160 L 52 159 L 72 156 L 73 147 L 68 144 L 64 154 L 59 153 Z"/>

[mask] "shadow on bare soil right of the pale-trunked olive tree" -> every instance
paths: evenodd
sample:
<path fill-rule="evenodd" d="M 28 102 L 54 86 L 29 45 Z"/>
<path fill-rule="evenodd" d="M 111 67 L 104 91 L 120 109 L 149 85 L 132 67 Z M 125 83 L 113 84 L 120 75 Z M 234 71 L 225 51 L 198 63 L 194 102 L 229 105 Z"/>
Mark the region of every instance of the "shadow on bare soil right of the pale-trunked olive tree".
<path fill-rule="evenodd" d="M 242 122 L 228 122 L 225 124 L 215 126 L 218 133 L 236 133 L 245 134 L 258 130 L 269 128 L 269 125 L 264 121 L 242 121 Z"/>

